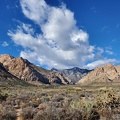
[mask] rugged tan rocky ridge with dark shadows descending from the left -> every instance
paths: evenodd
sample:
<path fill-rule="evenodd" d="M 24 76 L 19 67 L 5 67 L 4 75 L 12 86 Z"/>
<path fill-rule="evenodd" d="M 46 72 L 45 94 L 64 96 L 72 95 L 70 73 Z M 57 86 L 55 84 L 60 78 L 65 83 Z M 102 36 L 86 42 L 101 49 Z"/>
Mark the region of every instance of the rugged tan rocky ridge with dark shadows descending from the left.
<path fill-rule="evenodd" d="M 14 58 L 8 54 L 0 55 L 0 62 L 12 75 L 29 83 L 45 84 L 70 84 L 71 81 L 63 77 L 60 73 L 51 72 L 41 67 L 35 66 L 23 58 Z"/>

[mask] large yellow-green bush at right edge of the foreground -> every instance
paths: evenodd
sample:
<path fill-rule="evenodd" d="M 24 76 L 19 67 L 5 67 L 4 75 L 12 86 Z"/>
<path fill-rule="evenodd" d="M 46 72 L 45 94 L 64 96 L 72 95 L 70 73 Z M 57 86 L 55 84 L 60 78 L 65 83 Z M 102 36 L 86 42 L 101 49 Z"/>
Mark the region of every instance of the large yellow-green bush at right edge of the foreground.
<path fill-rule="evenodd" d="M 119 97 L 113 90 L 99 91 L 95 102 L 95 109 L 106 119 L 111 119 L 114 114 L 118 113 L 117 110 L 120 109 Z"/>

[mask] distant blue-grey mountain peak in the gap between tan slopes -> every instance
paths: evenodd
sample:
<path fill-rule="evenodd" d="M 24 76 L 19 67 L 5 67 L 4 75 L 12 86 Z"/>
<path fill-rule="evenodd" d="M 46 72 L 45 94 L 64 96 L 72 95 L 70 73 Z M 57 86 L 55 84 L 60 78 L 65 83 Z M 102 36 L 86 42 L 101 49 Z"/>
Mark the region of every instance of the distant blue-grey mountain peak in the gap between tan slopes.
<path fill-rule="evenodd" d="M 76 83 L 78 82 L 78 80 L 83 78 L 86 74 L 88 74 L 91 70 L 74 67 L 71 69 L 63 69 L 63 70 L 52 68 L 51 71 L 59 72 L 63 74 L 64 77 L 68 77 L 73 83 Z"/>

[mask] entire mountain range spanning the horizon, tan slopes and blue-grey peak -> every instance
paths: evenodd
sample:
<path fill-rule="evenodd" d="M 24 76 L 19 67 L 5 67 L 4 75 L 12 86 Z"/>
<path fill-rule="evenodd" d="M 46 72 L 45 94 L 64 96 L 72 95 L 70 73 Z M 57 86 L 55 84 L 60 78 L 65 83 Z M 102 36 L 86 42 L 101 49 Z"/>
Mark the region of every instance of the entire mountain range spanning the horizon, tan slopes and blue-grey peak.
<path fill-rule="evenodd" d="M 120 66 L 107 64 L 95 70 L 51 69 L 38 67 L 22 57 L 14 58 L 8 54 L 0 55 L 0 85 L 32 84 L 81 84 L 120 82 Z"/>

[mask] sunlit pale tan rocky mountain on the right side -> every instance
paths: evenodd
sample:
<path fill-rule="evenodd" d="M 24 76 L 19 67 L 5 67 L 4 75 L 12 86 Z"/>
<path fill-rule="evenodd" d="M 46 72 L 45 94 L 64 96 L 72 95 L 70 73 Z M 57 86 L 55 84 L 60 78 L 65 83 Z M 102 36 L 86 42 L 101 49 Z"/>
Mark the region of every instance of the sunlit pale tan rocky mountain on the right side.
<path fill-rule="evenodd" d="M 120 82 L 120 66 L 115 67 L 112 64 L 97 67 L 78 81 L 78 84 L 90 84 L 97 82 Z"/>

